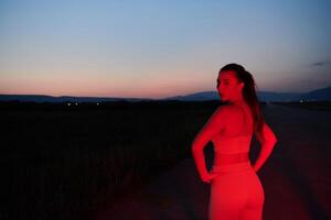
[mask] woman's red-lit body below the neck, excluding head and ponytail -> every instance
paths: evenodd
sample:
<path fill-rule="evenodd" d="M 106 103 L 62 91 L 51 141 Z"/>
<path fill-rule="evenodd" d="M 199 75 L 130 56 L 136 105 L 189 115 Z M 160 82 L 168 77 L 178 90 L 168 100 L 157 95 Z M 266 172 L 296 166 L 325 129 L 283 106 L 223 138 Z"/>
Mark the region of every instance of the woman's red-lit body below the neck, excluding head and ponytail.
<path fill-rule="evenodd" d="M 256 172 L 270 155 L 276 138 L 265 123 L 263 136 L 257 136 L 261 151 L 252 166 L 248 157 L 253 119 L 246 106 L 222 106 L 213 113 L 192 143 L 197 173 L 211 184 L 210 219 L 261 219 L 264 188 Z M 203 148 L 212 141 L 214 164 L 209 172 Z"/>

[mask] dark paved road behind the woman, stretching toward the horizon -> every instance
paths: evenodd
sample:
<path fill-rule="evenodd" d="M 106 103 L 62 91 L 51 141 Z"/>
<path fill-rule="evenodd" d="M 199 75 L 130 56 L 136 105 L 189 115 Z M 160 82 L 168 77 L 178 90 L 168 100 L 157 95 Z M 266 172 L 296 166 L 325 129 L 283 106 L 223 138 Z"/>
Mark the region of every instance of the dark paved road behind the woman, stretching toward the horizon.
<path fill-rule="evenodd" d="M 258 176 L 265 189 L 264 220 L 331 219 L 331 112 L 276 105 L 264 109 L 278 143 Z M 250 157 L 259 151 L 253 140 Z M 207 164 L 212 163 L 207 146 Z M 96 219 L 206 220 L 210 185 L 192 158 L 100 210 Z"/>

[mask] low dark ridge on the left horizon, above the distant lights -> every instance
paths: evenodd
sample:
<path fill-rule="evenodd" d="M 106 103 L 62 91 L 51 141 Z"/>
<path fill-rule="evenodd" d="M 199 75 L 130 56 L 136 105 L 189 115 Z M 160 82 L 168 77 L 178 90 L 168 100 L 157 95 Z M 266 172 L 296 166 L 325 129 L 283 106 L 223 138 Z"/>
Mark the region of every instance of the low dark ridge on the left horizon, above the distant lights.
<path fill-rule="evenodd" d="M 139 98 L 107 98 L 107 97 L 70 97 L 70 96 L 43 96 L 43 95 L 0 95 L 0 101 L 20 102 L 104 102 L 104 101 L 141 101 L 150 99 Z"/>

